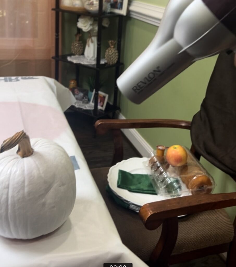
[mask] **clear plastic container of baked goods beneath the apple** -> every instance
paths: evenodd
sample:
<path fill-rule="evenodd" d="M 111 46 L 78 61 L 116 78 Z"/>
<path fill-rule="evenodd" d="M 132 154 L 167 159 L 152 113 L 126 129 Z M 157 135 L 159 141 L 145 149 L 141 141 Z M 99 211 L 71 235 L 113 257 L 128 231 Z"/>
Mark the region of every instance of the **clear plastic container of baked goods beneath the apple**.
<path fill-rule="evenodd" d="M 188 148 L 183 147 L 187 152 L 187 162 L 182 166 L 171 166 L 166 160 L 167 148 L 157 148 L 150 153 L 147 168 L 158 195 L 169 198 L 212 193 L 214 179 Z"/>

